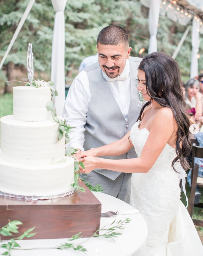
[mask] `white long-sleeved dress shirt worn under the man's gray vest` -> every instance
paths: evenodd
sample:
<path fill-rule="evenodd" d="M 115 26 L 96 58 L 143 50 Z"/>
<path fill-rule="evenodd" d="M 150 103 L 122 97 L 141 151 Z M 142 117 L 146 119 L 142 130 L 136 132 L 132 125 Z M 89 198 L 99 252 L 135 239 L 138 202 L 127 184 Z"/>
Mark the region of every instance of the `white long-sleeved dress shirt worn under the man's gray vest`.
<path fill-rule="evenodd" d="M 102 74 L 108 82 L 109 77 L 105 72 Z M 127 76 L 127 80 L 117 80 L 108 82 L 110 89 L 114 95 L 114 98 L 123 114 L 123 117 L 127 121 L 128 110 L 130 107 L 130 65 L 129 60 L 126 61 L 126 65 L 121 76 Z M 99 95 L 98 95 L 99 96 Z M 89 80 L 87 73 L 82 70 L 76 78 L 68 91 L 65 106 L 63 109 L 63 117 L 66 119 L 67 124 L 74 129 L 69 134 L 70 142 L 67 147 L 78 148 L 84 151 L 84 125 L 87 121 L 87 112 L 89 103 L 91 100 L 91 93 L 89 88 Z"/>

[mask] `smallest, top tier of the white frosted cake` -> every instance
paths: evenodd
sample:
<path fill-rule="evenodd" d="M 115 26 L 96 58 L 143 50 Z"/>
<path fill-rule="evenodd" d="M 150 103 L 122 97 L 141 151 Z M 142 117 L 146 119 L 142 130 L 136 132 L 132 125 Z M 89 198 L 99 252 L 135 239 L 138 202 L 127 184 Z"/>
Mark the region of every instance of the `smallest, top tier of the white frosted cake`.
<path fill-rule="evenodd" d="M 51 101 L 49 86 L 16 86 L 13 87 L 13 115 L 21 121 L 49 120 L 50 111 L 46 104 Z"/>

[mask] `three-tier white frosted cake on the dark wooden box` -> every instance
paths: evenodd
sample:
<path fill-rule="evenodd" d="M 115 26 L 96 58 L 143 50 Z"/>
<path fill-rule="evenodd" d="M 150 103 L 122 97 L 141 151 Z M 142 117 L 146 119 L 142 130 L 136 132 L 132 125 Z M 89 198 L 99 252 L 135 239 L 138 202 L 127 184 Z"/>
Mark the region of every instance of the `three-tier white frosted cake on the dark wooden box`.
<path fill-rule="evenodd" d="M 65 136 L 46 104 L 49 87 L 13 88 L 13 115 L 1 118 L 0 191 L 56 198 L 73 193 L 74 159 L 65 156 Z"/>

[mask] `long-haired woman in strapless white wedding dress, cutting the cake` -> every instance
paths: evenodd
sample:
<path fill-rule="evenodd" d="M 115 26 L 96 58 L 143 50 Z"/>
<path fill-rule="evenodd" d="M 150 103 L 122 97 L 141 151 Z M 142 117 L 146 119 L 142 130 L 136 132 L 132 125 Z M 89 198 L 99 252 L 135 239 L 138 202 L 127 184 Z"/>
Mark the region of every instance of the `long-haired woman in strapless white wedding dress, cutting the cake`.
<path fill-rule="evenodd" d="M 85 167 L 80 173 L 95 168 L 132 173 L 130 204 L 147 222 L 148 256 L 202 256 L 203 246 L 180 201 L 179 171 L 189 168 L 191 144 L 178 64 L 166 53 L 151 53 L 140 62 L 137 80 L 146 101 L 137 122 L 123 139 L 77 153 Z M 133 146 L 138 158 L 98 158 L 127 153 Z"/>

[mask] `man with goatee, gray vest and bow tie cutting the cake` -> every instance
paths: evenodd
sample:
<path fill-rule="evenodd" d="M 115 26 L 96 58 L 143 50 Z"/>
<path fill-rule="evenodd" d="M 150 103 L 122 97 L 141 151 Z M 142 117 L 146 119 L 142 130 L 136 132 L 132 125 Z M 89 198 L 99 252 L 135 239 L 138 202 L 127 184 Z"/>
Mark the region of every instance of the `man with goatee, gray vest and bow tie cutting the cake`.
<path fill-rule="evenodd" d="M 137 68 L 141 59 L 129 57 L 128 36 L 118 26 L 102 29 L 97 38 L 98 62 L 82 70 L 68 92 L 63 117 L 75 127 L 69 147 L 81 151 L 112 143 L 137 121 L 142 104 L 136 89 Z M 109 159 L 135 158 L 134 148 Z M 131 174 L 95 169 L 82 174 L 85 181 L 101 184 L 103 193 L 130 202 Z"/>

